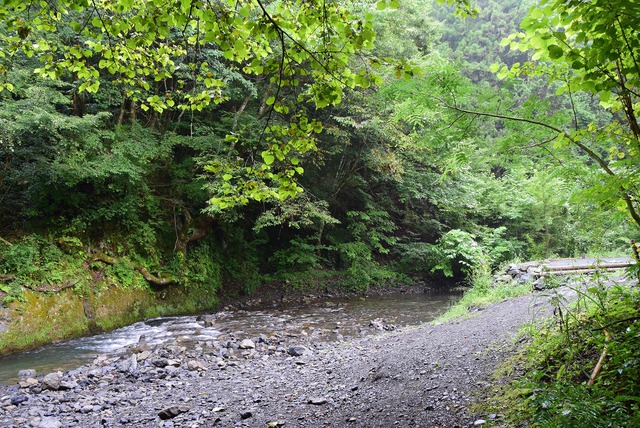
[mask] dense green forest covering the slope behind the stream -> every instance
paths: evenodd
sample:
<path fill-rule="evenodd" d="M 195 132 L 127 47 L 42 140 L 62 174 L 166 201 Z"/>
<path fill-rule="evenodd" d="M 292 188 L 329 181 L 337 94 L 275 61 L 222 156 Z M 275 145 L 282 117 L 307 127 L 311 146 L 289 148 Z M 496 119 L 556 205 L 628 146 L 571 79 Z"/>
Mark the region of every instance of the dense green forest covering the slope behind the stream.
<path fill-rule="evenodd" d="M 631 254 L 640 4 L 439 3 L 5 1 L 3 311 Z"/>

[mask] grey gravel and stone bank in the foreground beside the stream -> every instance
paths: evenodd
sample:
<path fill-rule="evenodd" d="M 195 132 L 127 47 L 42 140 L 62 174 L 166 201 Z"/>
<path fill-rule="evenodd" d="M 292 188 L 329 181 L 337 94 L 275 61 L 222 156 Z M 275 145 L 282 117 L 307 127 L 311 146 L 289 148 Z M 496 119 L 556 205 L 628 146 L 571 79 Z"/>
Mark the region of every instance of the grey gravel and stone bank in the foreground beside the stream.
<path fill-rule="evenodd" d="M 468 319 L 317 342 L 229 334 L 187 348 L 144 339 L 68 372 L 24 370 L 0 388 L 3 427 L 466 427 L 476 392 L 517 347 L 519 327 L 549 313 L 529 295 Z M 202 317 L 205 326 L 215 318 Z"/>

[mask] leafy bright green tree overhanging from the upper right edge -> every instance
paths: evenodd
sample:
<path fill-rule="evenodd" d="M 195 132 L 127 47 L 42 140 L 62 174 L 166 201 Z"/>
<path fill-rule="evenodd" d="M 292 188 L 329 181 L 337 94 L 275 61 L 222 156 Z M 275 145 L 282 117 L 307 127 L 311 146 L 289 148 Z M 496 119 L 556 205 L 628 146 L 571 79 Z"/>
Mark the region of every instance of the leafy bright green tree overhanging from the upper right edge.
<path fill-rule="evenodd" d="M 591 195 L 619 202 L 640 226 L 639 25 L 637 0 L 543 0 L 523 20 L 523 31 L 502 42 L 530 52 L 531 60 L 510 67 L 495 64 L 492 70 L 501 78 L 543 77 L 555 95 L 546 105 L 532 108 L 529 103 L 522 115 L 453 107 L 540 127 L 547 132 L 540 146 L 579 150 L 587 164 L 600 170 Z M 585 122 L 577 107 L 584 95 L 611 112 L 611 120 Z"/>

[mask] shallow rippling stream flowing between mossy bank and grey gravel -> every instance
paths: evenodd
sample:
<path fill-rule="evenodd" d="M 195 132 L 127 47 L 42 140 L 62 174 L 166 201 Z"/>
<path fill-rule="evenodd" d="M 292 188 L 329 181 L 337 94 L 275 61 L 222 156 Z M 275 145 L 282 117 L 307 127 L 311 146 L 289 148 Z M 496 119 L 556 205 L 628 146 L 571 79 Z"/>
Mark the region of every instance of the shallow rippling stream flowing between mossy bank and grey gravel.
<path fill-rule="evenodd" d="M 428 322 L 445 312 L 461 296 L 460 291 L 438 290 L 420 294 L 394 294 L 355 299 L 327 299 L 308 305 L 281 306 L 251 311 L 224 311 L 206 316 L 163 317 L 138 322 L 109 333 L 83 337 L 41 349 L 0 358 L 0 383 L 13 383 L 22 369 L 38 373 L 70 370 L 99 354 L 119 354 L 141 338 L 149 344 L 222 340 L 234 335 L 252 338 L 261 334 L 309 336 L 315 341 L 371 334 Z M 372 322 L 374 321 L 374 322 Z"/>

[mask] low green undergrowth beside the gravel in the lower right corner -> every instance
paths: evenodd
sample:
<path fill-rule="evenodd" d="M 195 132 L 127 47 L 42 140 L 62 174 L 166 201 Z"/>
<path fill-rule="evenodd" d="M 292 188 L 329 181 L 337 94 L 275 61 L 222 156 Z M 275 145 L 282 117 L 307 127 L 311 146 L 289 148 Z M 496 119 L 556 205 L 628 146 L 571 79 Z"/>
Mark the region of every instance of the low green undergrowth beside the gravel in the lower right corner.
<path fill-rule="evenodd" d="M 532 329 L 516 372 L 490 400 L 508 426 L 640 427 L 640 289 L 596 276 L 549 294 L 553 323 Z M 504 420 L 500 422 L 504 425 Z"/>

